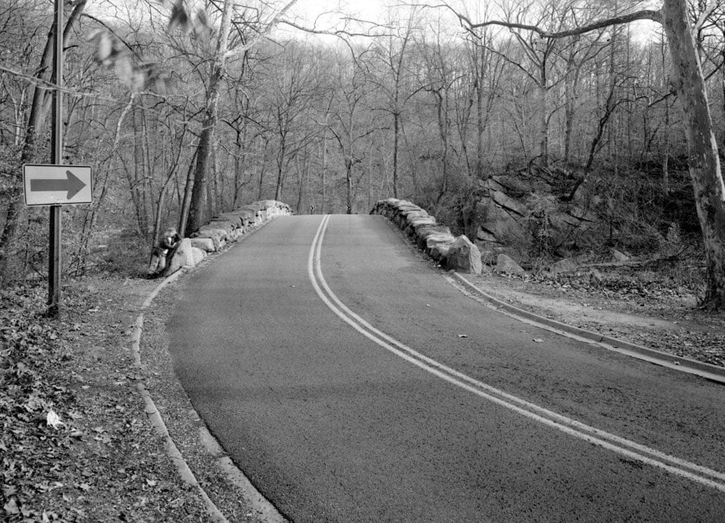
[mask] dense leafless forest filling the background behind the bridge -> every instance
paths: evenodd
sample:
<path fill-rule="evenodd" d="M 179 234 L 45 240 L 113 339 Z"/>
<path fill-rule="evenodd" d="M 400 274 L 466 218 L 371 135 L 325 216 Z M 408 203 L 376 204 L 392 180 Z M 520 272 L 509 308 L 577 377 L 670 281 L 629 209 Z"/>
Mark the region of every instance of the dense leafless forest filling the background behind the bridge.
<path fill-rule="evenodd" d="M 602 246 L 694 246 L 708 298 L 723 303 L 725 11 L 714 0 L 405 5 L 334 30 L 265 1 L 65 9 L 63 157 L 91 165 L 95 183 L 92 206 L 64 207 L 67 275 L 141 267 L 159 229 L 191 233 L 263 198 L 306 214 L 367 213 L 394 196 L 470 234 L 486 180 L 505 176 L 534 218 L 596 195 Z M 0 0 L 6 280 L 46 271 L 47 212 L 22 204 L 20 173 L 51 163 L 52 22 L 49 0 Z M 568 254 L 534 244 L 522 256 Z"/>

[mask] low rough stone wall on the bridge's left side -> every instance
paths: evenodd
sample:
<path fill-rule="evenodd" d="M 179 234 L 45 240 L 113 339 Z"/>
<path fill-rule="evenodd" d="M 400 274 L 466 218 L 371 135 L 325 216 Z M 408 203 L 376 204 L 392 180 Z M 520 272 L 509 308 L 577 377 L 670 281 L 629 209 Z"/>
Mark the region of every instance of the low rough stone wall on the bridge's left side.
<path fill-rule="evenodd" d="M 195 267 L 208 254 L 220 251 L 270 219 L 290 214 L 289 205 L 276 200 L 252 201 L 233 211 L 220 213 L 207 225 L 199 227 L 190 238 L 181 240 L 173 258 L 167 260 L 164 275 L 171 275 L 182 267 Z"/>

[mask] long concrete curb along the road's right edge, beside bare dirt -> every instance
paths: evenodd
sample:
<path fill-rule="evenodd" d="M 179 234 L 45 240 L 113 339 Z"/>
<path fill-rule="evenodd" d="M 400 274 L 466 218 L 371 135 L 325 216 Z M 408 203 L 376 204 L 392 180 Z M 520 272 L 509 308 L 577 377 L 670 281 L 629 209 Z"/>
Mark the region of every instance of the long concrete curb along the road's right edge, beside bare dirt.
<path fill-rule="evenodd" d="M 546 330 L 558 332 L 559 334 L 565 335 L 568 338 L 574 338 L 581 341 L 587 341 L 589 343 L 595 343 L 598 346 L 606 348 L 610 351 L 615 351 L 626 356 L 632 356 L 643 361 L 649 361 L 655 365 L 661 367 L 667 367 L 668 369 L 674 369 L 679 372 L 686 372 L 687 374 L 703 377 L 706 380 L 711 380 L 721 385 L 725 385 L 725 367 L 718 367 L 717 365 L 711 365 L 697 361 L 694 359 L 684 358 L 682 356 L 674 356 L 661 351 L 655 351 L 653 348 L 647 348 L 629 341 L 618 340 L 617 338 L 611 338 L 610 336 L 598 334 L 589 330 L 580 329 L 579 327 L 572 327 L 566 325 L 566 323 L 558 322 L 555 319 L 546 318 L 534 314 L 533 312 L 519 309 L 517 306 L 506 303 L 499 298 L 494 298 L 481 290 L 480 288 L 473 285 L 465 277 L 452 272 L 453 278 L 457 283 L 463 285 L 463 287 L 472 293 L 474 296 L 483 298 L 490 306 L 497 311 L 507 314 L 510 317 L 521 319 L 531 325 L 542 327 Z"/>

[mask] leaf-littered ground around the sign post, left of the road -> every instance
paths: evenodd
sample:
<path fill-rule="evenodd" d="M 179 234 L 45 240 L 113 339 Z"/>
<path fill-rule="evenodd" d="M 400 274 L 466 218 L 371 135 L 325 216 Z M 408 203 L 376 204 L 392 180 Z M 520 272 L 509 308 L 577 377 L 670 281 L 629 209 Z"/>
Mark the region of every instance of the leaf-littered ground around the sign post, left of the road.
<path fill-rule="evenodd" d="M 135 395 L 129 310 L 64 289 L 50 321 L 44 291 L 0 289 L 0 521 L 187 519 L 199 506 L 169 508 L 179 480 Z"/>

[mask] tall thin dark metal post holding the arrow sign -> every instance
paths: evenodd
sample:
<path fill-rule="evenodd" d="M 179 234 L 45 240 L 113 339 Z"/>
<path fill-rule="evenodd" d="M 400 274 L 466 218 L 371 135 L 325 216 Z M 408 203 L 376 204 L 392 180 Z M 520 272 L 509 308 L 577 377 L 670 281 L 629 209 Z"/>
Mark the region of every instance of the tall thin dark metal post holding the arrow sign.
<path fill-rule="evenodd" d="M 53 61 L 55 96 L 53 96 L 53 163 L 63 160 L 63 0 L 55 0 L 55 59 Z M 57 317 L 60 311 L 60 206 L 50 207 L 48 250 L 48 308 L 49 317 Z"/>

